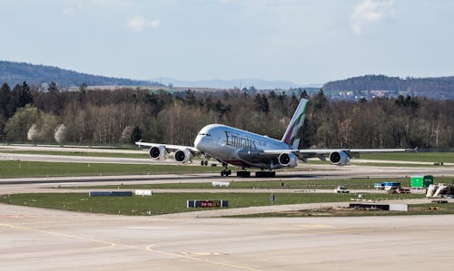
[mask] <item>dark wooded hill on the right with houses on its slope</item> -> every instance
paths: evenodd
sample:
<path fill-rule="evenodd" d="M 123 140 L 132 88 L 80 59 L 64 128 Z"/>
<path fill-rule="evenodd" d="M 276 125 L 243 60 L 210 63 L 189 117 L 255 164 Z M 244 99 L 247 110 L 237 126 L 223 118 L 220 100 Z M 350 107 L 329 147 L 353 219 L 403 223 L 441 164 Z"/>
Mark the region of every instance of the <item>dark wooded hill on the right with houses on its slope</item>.
<path fill-rule="evenodd" d="M 454 99 L 454 76 L 401 79 L 385 75 L 364 75 L 327 82 L 326 92 L 388 91 L 394 95 L 410 94 L 434 99 Z"/>

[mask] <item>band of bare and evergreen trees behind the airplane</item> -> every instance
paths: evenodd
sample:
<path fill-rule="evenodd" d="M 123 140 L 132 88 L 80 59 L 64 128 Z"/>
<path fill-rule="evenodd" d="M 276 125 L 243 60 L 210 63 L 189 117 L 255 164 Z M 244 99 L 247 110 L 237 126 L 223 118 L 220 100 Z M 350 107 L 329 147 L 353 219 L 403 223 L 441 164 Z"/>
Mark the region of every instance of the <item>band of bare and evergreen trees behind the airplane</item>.
<path fill-rule="evenodd" d="M 454 101 L 399 96 L 331 101 L 324 92 L 164 92 L 139 88 L 38 91 L 27 82 L 0 90 L 0 140 L 123 145 L 134 140 L 192 145 L 206 124 L 281 139 L 301 98 L 310 99 L 301 148 L 454 146 Z"/>

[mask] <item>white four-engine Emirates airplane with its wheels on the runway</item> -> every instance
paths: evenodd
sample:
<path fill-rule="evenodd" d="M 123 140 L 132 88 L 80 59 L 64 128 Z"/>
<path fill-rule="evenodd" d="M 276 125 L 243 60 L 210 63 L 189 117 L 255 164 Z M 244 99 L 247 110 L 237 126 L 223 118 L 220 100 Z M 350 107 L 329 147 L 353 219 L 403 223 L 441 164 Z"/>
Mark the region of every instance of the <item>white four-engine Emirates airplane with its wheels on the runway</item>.
<path fill-rule="evenodd" d="M 174 152 L 174 159 L 181 163 L 192 162 L 194 156 L 202 157 L 201 164 L 208 165 L 213 158 L 222 162 L 221 176 L 229 176 L 232 170 L 228 165 L 241 168 L 238 177 L 251 177 L 246 169 L 261 169 L 256 177 L 275 177 L 274 169 L 294 168 L 298 161 L 307 162 L 309 158 L 329 160 L 338 166 L 348 165 L 350 158 L 359 157 L 360 153 L 403 152 L 417 149 L 306 149 L 299 148 L 302 136 L 302 124 L 309 107 L 309 101 L 301 99 L 281 140 L 243 131 L 222 124 L 209 124 L 197 134 L 193 146 L 147 143 L 142 140 L 135 144 L 150 147 L 148 150 L 153 160 L 165 160 L 167 154 Z"/>

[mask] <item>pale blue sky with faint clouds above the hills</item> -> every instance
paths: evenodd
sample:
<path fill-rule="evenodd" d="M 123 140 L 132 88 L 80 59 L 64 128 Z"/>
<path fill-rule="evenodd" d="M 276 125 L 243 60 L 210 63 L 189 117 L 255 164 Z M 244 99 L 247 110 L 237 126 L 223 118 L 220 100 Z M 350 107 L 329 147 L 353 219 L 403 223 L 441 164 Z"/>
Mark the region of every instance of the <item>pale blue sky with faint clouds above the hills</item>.
<path fill-rule="evenodd" d="M 449 0 L 0 0 L 0 60 L 132 79 L 454 75 Z"/>

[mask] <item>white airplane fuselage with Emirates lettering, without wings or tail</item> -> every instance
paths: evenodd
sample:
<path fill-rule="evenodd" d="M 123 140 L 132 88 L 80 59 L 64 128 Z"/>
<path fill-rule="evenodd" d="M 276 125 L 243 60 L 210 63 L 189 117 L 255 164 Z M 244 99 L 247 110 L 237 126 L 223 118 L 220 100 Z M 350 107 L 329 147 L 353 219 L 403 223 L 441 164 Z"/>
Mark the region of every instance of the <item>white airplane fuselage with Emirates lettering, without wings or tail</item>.
<path fill-rule="evenodd" d="M 250 131 L 243 131 L 221 124 L 210 124 L 202 128 L 194 140 L 194 147 L 207 156 L 235 166 L 269 168 L 270 160 L 242 159 L 241 153 L 259 153 L 261 150 L 289 150 L 281 140 L 271 139 Z"/>

